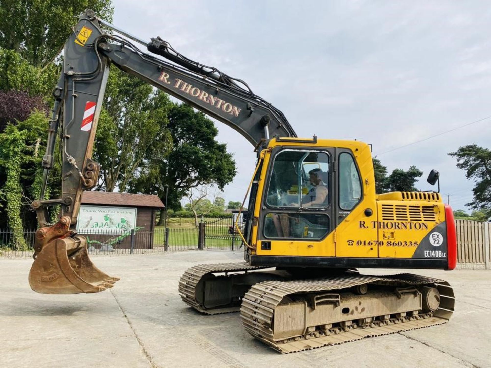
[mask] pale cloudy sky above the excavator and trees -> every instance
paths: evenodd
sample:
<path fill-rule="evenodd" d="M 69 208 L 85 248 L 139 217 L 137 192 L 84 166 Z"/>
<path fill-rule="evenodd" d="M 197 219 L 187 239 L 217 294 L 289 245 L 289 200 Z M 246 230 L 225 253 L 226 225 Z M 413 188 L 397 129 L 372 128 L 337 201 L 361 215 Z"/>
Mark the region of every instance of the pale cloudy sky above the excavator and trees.
<path fill-rule="evenodd" d="M 246 80 L 283 111 L 300 137 L 372 143 L 389 171 L 416 165 L 416 186 L 440 172 L 441 193 L 464 209 L 473 183 L 447 155 L 490 148 L 491 3 L 488 1 L 113 0 L 113 23 L 144 40 Z M 137 4 L 137 5 L 136 5 Z M 216 123 L 238 174 L 226 201 L 242 200 L 252 146 Z M 446 198 L 446 197 L 445 197 Z"/>

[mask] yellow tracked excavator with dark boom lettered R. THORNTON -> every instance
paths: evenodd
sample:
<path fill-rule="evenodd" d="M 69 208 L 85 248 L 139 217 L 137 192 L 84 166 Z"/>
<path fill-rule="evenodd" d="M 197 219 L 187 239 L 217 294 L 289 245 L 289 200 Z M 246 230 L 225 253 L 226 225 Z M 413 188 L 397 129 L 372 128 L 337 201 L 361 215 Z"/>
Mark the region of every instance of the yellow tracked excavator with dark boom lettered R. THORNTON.
<path fill-rule="evenodd" d="M 179 281 L 185 303 L 208 315 L 240 311 L 252 336 L 283 353 L 450 318 L 455 299 L 446 281 L 356 270 L 455 268 L 453 213 L 438 192 L 377 195 L 368 144 L 298 138 L 284 114 L 244 81 L 186 58 L 160 37 L 142 41 L 90 10 L 66 41 L 54 90 L 41 199 L 32 203 L 41 226 L 29 274 L 34 291 L 98 292 L 118 280 L 90 262 L 75 230 L 82 191 L 98 179 L 91 152 L 110 64 L 232 127 L 257 152 L 246 226 L 236 224 L 245 262 L 186 270 Z M 44 200 L 58 135 L 62 197 Z M 435 170 L 428 181 L 438 182 Z M 47 222 L 53 205 L 61 206 L 54 225 Z"/>

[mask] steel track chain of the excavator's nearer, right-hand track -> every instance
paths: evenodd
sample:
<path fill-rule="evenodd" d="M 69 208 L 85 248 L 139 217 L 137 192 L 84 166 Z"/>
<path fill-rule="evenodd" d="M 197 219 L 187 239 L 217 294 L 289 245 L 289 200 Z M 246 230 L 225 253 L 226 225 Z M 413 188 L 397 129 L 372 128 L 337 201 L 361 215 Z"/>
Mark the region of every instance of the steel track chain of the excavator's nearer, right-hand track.
<path fill-rule="evenodd" d="M 397 324 L 375 326 L 365 329 L 354 329 L 347 332 L 305 339 L 299 337 L 287 342 L 275 341 L 273 335 L 274 309 L 281 300 L 293 293 L 325 292 L 352 288 L 362 284 L 379 284 L 394 286 L 435 285 L 440 292 L 440 306 L 433 315 L 418 316 L 418 320 L 410 320 Z M 258 283 L 246 292 L 242 301 L 241 319 L 246 331 L 256 339 L 267 343 L 282 353 L 309 350 L 326 345 L 339 344 L 360 340 L 366 337 L 381 336 L 400 331 L 434 326 L 446 323 L 453 313 L 455 295 L 450 285 L 440 279 L 413 274 L 389 276 L 369 276 L 345 274 L 343 276 L 324 277 L 309 280 L 265 281 Z M 421 318 L 421 319 L 420 319 Z"/>

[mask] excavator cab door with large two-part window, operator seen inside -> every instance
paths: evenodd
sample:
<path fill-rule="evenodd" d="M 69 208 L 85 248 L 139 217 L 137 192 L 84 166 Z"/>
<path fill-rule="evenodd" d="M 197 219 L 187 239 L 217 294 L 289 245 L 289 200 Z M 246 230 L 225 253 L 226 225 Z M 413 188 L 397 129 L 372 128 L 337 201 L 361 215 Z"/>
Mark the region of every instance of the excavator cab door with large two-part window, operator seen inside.
<path fill-rule="evenodd" d="M 265 256 L 334 257 L 333 176 L 334 149 L 275 147 L 271 152 L 257 227 L 256 254 Z M 309 173 L 326 187 L 322 203 Z M 258 213 L 258 212 L 256 212 Z"/>

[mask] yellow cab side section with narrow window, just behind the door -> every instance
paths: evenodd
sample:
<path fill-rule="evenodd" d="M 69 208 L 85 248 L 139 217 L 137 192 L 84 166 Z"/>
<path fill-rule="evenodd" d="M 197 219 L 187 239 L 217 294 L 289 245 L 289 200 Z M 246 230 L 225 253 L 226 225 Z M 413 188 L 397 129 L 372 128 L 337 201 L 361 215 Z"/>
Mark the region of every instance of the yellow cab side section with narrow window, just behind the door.
<path fill-rule="evenodd" d="M 364 183 L 368 178 L 361 177 L 356 158 L 351 150 L 336 149 L 336 257 L 378 257 L 375 198 L 366 195 Z"/>

